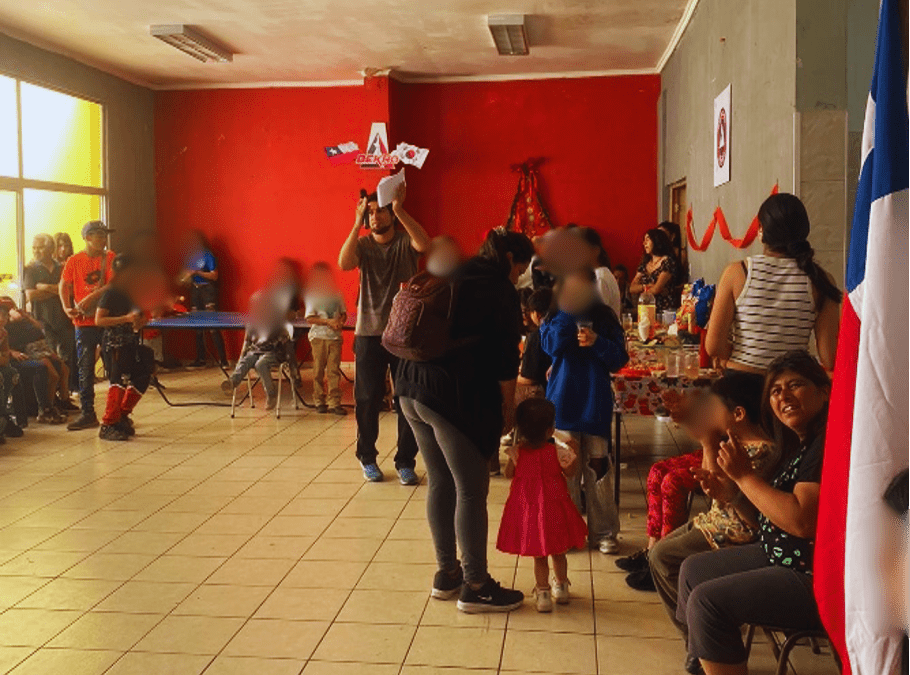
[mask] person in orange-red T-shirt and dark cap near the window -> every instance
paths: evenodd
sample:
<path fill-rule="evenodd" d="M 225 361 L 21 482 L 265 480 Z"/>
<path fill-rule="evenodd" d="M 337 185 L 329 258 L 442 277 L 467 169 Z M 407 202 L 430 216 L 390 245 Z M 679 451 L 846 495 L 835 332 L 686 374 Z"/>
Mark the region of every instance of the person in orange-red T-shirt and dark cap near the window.
<path fill-rule="evenodd" d="M 95 414 L 95 352 L 101 345 L 103 331 L 95 325 L 95 306 L 113 276 L 114 252 L 107 250 L 111 230 L 100 220 L 82 227 L 85 250 L 70 257 L 60 277 L 60 301 L 63 311 L 76 327 L 76 359 L 79 366 L 79 406 L 81 414 L 67 429 L 91 429 L 98 426 Z"/>

